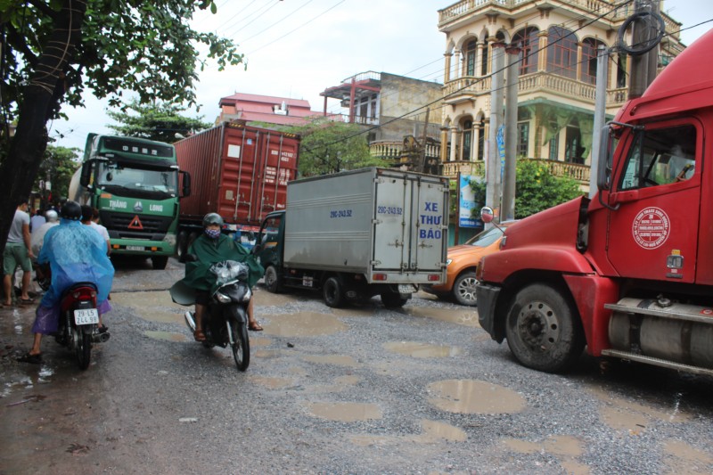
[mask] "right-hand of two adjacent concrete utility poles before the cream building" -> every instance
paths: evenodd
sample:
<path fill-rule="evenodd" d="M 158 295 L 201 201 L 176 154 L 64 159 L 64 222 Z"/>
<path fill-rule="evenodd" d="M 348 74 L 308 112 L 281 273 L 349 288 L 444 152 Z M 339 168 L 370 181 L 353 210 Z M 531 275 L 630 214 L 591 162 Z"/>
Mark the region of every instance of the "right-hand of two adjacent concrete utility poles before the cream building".
<path fill-rule="evenodd" d="M 507 80 L 505 82 L 505 169 L 503 179 L 503 209 L 500 222 L 515 218 L 515 176 L 518 152 L 518 82 L 520 79 L 520 48 L 508 45 Z"/>

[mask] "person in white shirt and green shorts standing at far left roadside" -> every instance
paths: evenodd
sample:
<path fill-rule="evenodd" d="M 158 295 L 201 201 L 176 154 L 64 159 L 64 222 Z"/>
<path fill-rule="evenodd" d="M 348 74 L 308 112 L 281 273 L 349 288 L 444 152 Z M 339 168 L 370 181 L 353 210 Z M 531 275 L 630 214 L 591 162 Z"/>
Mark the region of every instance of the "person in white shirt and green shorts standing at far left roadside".
<path fill-rule="evenodd" d="M 32 244 L 29 237 L 29 215 L 27 213 L 27 198 L 18 203 L 15 216 L 12 218 L 10 233 L 7 234 L 7 243 L 3 253 L 3 287 L 5 292 L 4 306 L 12 306 L 12 275 L 17 266 L 22 268 L 22 293 L 20 303 L 30 304 L 33 299 L 29 297 L 29 283 L 32 279 Z"/>

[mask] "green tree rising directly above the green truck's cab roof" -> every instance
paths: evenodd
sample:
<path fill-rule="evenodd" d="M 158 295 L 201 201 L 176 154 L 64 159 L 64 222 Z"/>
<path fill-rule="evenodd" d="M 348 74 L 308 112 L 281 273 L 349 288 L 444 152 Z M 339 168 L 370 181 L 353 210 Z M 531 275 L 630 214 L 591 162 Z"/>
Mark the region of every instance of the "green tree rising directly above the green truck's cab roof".
<path fill-rule="evenodd" d="M 168 102 L 142 104 L 138 100 L 128 103 L 125 109 L 107 111 L 111 119 L 119 125 L 108 125 L 118 135 L 140 137 L 165 143 L 174 143 L 180 139 L 176 134 L 187 136 L 193 131 L 209 128 L 212 124 L 201 118 L 188 118 L 181 115 L 185 107 Z"/>

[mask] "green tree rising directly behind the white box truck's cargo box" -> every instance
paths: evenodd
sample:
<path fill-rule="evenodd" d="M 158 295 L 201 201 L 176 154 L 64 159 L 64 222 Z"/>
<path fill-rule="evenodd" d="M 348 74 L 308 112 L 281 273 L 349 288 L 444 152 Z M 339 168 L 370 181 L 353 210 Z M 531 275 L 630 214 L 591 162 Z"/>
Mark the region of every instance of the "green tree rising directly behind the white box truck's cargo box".
<path fill-rule="evenodd" d="M 356 124 L 318 118 L 287 132 L 302 137 L 299 176 L 318 176 L 363 167 L 387 167 L 389 162 L 372 157 L 364 134 Z"/>

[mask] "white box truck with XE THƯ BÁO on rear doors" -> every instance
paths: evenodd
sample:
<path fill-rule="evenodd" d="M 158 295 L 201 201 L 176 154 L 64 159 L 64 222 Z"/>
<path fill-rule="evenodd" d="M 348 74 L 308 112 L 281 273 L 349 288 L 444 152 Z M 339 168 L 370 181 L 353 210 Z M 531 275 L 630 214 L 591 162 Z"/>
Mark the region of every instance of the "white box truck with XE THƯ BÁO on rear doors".
<path fill-rule="evenodd" d="M 260 226 L 268 291 L 322 290 L 330 307 L 381 295 L 401 307 L 446 280 L 448 179 L 361 168 L 292 181 Z"/>

